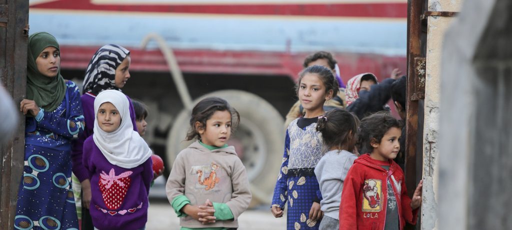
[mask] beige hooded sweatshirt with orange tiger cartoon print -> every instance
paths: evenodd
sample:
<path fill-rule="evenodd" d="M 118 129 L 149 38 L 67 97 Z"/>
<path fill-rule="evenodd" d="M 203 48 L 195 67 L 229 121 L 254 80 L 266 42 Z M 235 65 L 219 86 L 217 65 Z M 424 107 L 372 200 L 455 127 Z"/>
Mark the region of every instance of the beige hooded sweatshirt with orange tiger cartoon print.
<path fill-rule="evenodd" d="M 185 216 L 180 225 L 189 228 L 238 227 L 238 217 L 251 201 L 249 180 L 245 167 L 233 146 L 208 150 L 199 141 L 182 150 L 173 164 L 166 185 L 169 202 L 179 195 L 185 195 L 191 205 L 211 202 L 226 203 L 233 220 L 216 221 L 207 226 Z"/>

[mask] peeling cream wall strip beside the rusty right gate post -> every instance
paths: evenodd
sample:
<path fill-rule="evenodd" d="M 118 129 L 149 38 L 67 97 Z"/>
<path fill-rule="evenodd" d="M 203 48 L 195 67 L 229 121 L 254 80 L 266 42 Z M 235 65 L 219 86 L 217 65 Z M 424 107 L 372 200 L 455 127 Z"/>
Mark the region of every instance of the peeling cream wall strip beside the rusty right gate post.
<path fill-rule="evenodd" d="M 458 12 L 462 0 L 429 0 L 428 11 Z M 426 42 L 426 77 L 423 125 L 423 203 L 421 229 L 437 229 L 436 176 L 440 98 L 441 51 L 444 33 L 454 17 L 428 17 Z"/>

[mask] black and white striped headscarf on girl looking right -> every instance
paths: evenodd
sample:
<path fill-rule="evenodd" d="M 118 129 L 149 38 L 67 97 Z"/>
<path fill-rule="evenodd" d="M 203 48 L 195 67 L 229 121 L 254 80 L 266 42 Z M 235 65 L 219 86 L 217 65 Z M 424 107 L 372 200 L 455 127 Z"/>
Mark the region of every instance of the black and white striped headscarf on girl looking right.
<path fill-rule="evenodd" d="M 130 55 L 130 51 L 120 45 L 103 45 L 93 55 L 87 66 L 86 77 L 83 79 L 82 94 L 98 95 L 106 89 L 116 89 L 116 68 Z"/>

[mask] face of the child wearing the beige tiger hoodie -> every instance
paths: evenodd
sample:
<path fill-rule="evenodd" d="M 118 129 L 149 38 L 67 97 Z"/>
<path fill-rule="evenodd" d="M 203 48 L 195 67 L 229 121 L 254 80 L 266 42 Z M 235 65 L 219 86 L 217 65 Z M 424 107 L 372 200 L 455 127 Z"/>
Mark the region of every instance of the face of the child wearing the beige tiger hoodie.
<path fill-rule="evenodd" d="M 198 129 L 201 124 L 196 122 L 196 129 L 201 135 L 201 142 L 209 146 L 224 146 L 231 136 L 231 113 L 229 111 L 215 111 L 206 121 L 203 129 Z"/>

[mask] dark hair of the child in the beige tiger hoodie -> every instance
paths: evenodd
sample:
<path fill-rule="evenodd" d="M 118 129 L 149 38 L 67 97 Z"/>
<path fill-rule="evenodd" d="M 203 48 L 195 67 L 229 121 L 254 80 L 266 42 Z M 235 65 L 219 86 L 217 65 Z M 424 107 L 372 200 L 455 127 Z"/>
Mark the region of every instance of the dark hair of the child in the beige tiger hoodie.
<path fill-rule="evenodd" d="M 190 118 L 190 129 L 188 130 L 186 140 L 190 141 L 193 139 L 200 139 L 201 135 L 198 130 L 196 130 L 196 122 L 201 123 L 200 128 L 206 127 L 206 121 L 211 118 L 211 116 L 216 111 L 229 111 L 231 113 L 231 132 L 238 126 L 240 123 L 240 114 L 238 111 L 227 103 L 226 100 L 218 97 L 207 97 L 194 106 L 192 109 L 192 116 Z M 236 119 L 233 122 L 233 117 Z"/>

